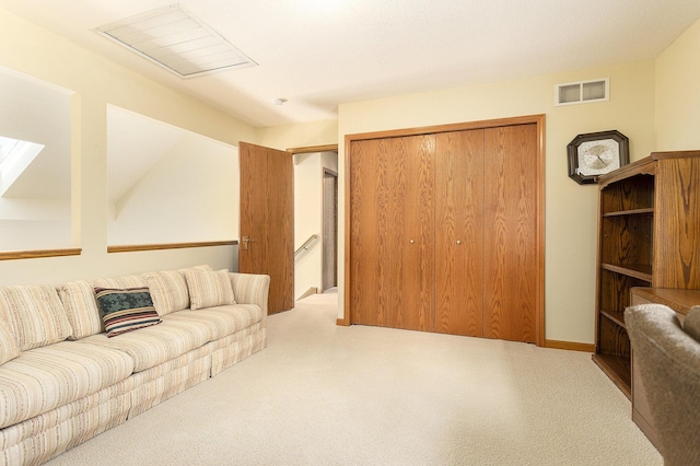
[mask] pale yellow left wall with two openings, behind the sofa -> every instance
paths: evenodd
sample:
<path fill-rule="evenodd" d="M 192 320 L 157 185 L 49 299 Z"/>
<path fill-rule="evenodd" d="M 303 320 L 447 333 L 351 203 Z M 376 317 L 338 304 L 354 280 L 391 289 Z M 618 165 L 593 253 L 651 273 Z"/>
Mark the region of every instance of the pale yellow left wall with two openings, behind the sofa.
<path fill-rule="evenodd" d="M 202 263 L 235 266 L 232 246 L 107 254 L 106 106 L 114 104 L 230 144 L 255 141 L 256 128 L 1 10 L 0 44 L 0 67 L 77 92 L 73 245 L 83 249 L 74 257 L 0 261 L 0 284 L 57 283 Z"/>

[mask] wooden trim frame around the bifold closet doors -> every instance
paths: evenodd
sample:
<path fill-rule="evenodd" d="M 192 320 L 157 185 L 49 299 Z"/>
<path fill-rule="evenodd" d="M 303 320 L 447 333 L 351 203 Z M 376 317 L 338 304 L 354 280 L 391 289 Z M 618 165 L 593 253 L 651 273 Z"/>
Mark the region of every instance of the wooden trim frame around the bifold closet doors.
<path fill-rule="evenodd" d="M 338 325 L 350 325 L 351 323 L 351 291 L 352 291 L 352 276 L 350 273 L 351 264 L 351 206 L 350 206 L 350 193 L 352 190 L 351 180 L 349 174 L 352 173 L 350 148 L 353 141 L 366 140 L 366 139 L 382 139 L 394 138 L 401 136 L 419 136 L 419 135 L 432 135 L 440 132 L 462 131 L 469 129 L 487 129 L 499 128 L 515 125 L 536 125 L 537 128 L 537 172 L 535 179 L 532 183 L 536 187 L 536 232 L 535 244 L 536 252 L 535 257 L 537 260 L 537 277 L 536 277 L 536 313 L 535 313 L 535 342 L 539 347 L 545 346 L 545 115 L 527 115 L 511 118 L 498 118 L 490 120 L 479 120 L 469 123 L 459 123 L 451 125 L 438 125 L 420 128 L 405 128 L 388 131 L 365 132 L 357 135 L 346 135 L 345 137 L 345 171 L 347 176 L 345 177 L 345 300 L 343 300 L 343 317 L 338 319 Z"/>

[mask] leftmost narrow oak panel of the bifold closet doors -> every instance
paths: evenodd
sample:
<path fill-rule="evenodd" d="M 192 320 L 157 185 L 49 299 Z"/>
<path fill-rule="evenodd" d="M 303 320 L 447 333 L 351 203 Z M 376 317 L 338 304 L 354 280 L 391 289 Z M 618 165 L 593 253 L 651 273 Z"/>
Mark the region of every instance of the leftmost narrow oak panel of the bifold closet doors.
<path fill-rule="evenodd" d="M 350 148 L 350 306 L 352 323 L 392 326 L 392 232 L 387 141 L 353 141 Z"/>

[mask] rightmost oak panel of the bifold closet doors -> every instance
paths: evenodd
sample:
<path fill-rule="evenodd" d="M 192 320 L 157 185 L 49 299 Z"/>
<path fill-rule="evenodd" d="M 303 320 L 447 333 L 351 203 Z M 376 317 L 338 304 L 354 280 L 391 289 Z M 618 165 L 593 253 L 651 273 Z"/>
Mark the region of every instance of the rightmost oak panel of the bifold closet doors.
<path fill-rule="evenodd" d="M 539 342 L 537 126 L 486 129 L 485 336 Z"/>

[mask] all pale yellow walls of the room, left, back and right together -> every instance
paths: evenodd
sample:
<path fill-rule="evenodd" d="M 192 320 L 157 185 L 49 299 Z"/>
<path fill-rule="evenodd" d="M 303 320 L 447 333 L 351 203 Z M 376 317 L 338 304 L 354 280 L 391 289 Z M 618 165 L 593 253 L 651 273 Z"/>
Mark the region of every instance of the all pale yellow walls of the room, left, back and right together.
<path fill-rule="evenodd" d="M 244 140 L 288 149 L 339 143 L 341 258 L 346 135 L 546 114 L 546 337 L 591 343 L 597 190 L 567 176 L 567 143 L 578 133 L 617 129 L 630 138 L 632 160 L 656 149 L 700 148 L 700 22 L 656 60 L 347 103 L 340 105 L 338 120 L 273 128 L 254 128 L 231 118 L 3 11 L 0 43 L 22 44 L 0 47 L 0 67 L 77 92 L 73 242 L 83 248 L 78 257 L 1 261 L 0 284 L 59 282 L 195 263 L 234 267 L 233 247 L 107 255 L 107 104 L 231 144 Z M 609 102 L 553 106 L 556 83 L 606 77 Z M 339 273 L 342 300 L 342 267 Z"/>

